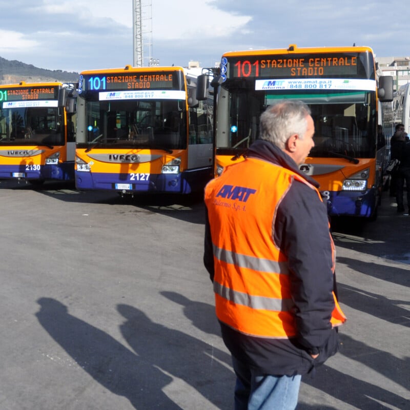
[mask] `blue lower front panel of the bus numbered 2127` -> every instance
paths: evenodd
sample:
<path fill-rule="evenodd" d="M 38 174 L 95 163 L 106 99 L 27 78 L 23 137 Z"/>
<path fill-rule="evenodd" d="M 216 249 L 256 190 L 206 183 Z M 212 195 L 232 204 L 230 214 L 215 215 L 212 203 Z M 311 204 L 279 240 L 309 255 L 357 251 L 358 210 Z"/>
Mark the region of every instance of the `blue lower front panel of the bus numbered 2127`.
<path fill-rule="evenodd" d="M 190 194 L 204 188 L 211 179 L 211 168 L 180 174 L 107 174 L 75 171 L 75 186 L 84 190 Z"/>

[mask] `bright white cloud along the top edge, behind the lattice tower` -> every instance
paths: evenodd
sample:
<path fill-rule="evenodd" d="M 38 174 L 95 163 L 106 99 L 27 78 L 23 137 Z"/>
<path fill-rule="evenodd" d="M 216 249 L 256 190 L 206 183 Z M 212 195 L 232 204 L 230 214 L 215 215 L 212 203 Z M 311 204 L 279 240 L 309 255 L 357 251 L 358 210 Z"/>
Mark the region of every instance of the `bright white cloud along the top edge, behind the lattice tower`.
<path fill-rule="evenodd" d="M 208 41 L 240 30 L 252 18 L 218 10 L 211 0 L 141 0 L 140 4 L 142 30 L 152 32 L 153 38 Z M 35 7 L 50 14 L 74 14 L 89 19 L 90 25 L 96 19 L 110 18 L 118 25 L 133 27 L 132 0 L 45 0 Z"/>

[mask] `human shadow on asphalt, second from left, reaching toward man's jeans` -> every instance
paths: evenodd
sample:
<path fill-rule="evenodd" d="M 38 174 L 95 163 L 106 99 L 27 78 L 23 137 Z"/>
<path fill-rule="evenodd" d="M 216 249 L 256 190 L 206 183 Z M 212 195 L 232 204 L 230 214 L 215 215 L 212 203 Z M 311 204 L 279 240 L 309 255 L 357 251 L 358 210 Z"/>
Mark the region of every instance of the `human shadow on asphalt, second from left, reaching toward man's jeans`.
<path fill-rule="evenodd" d="M 218 409 L 233 407 L 235 376 L 229 354 L 186 333 L 155 323 L 133 306 L 120 304 L 117 309 L 126 319 L 120 326 L 122 336 L 147 366 L 183 380 Z M 190 403 L 187 408 L 201 406 Z"/>

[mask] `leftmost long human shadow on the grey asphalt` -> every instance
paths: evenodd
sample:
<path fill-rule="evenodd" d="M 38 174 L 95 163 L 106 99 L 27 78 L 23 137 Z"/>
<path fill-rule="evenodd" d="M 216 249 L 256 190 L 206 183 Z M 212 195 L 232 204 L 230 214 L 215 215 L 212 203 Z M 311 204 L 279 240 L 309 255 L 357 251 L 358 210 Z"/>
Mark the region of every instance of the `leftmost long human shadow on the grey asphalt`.
<path fill-rule="evenodd" d="M 182 410 L 162 388 L 172 382 L 144 357 L 139 357 L 107 333 L 80 320 L 51 298 L 38 299 L 37 319 L 50 336 L 98 383 L 126 397 L 138 410 Z M 84 408 L 87 403 L 84 403 Z"/>

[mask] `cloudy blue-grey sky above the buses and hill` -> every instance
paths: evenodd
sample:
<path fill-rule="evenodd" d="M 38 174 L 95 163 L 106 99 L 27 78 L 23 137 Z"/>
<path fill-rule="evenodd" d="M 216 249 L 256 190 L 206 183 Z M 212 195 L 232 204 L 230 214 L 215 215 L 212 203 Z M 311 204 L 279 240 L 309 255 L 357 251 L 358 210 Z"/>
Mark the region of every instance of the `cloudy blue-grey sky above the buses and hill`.
<path fill-rule="evenodd" d="M 370 46 L 409 56 L 402 0 L 141 0 L 144 62 L 213 66 L 224 51 Z M 0 0 L 0 57 L 50 70 L 133 64 L 132 0 Z M 151 54 L 150 54 L 151 52 Z"/>

